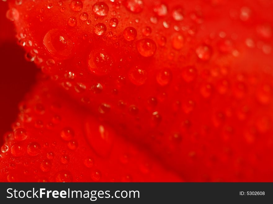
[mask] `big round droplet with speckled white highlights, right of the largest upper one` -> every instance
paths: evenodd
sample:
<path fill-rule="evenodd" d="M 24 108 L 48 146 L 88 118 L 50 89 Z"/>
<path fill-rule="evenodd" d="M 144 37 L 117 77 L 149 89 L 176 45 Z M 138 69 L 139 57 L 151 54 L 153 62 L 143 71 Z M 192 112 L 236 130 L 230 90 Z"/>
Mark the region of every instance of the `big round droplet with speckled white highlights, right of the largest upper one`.
<path fill-rule="evenodd" d="M 113 66 L 112 57 L 101 49 L 99 52 L 92 51 L 88 60 L 89 69 L 97 75 L 106 75 Z"/>

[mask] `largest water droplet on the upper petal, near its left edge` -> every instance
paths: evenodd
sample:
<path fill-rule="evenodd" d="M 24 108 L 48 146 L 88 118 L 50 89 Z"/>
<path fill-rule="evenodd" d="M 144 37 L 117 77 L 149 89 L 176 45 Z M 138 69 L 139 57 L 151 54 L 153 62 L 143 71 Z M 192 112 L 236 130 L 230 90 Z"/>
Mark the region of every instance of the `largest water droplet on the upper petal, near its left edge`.
<path fill-rule="evenodd" d="M 43 39 L 43 44 L 50 54 L 61 59 L 69 58 L 73 49 L 73 43 L 68 35 L 59 29 L 48 31 Z"/>

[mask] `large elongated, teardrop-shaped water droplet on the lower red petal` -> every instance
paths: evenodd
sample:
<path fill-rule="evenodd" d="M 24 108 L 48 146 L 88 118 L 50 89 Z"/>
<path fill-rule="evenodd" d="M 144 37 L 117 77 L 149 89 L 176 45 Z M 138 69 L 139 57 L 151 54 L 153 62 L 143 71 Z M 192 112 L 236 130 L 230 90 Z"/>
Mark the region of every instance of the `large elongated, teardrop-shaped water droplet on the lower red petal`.
<path fill-rule="evenodd" d="M 87 120 L 85 123 L 86 138 L 97 155 L 108 157 L 114 143 L 114 133 L 105 125 Z"/>

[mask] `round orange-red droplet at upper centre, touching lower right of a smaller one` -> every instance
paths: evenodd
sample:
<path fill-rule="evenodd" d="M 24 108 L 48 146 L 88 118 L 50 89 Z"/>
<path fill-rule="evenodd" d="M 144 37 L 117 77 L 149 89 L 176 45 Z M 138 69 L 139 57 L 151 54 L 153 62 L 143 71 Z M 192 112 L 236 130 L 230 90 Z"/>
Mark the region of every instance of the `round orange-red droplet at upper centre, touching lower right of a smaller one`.
<path fill-rule="evenodd" d="M 144 38 L 137 41 L 137 51 L 143 57 L 151 57 L 156 51 L 156 44 L 152 39 Z"/>

